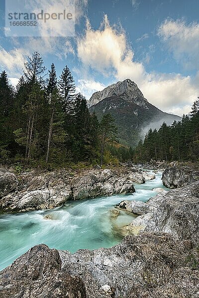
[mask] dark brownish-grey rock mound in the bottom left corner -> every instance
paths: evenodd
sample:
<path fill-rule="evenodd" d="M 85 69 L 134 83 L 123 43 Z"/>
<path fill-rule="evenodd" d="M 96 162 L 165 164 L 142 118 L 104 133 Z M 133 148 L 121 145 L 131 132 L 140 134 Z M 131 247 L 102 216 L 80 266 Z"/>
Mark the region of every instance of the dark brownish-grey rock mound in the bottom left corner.
<path fill-rule="evenodd" d="M 56 249 L 36 245 L 0 272 L 2 298 L 86 298 L 83 282 L 61 272 Z"/>

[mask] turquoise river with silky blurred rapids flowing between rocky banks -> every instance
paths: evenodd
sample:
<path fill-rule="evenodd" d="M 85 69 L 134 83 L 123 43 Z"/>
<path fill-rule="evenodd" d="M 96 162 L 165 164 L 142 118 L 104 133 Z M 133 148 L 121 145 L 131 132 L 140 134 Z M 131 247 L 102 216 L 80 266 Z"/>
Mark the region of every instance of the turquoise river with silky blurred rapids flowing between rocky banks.
<path fill-rule="evenodd" d="M 0 270 L 40 243 L 70 252 L 119 243 L 123 237 L 116 227 L 129 224 L 135 216 L 125 211 L 115 216 L 115 204 L 123 200 L 146 202 L 157 194 L 152 188 L 163 187 L 161 176 L 158 173 L 154 180 L 134 184 L 134 194 L 67 202 L 50 211 L 0 215 Z M 44 219 L 47 215 L 51 219 Z"/>

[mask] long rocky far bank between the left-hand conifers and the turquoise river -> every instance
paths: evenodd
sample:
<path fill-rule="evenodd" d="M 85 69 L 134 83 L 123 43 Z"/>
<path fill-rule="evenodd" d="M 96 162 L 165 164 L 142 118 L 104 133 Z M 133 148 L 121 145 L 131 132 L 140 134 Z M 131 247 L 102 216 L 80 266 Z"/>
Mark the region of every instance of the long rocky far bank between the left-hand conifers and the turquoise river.
<path fill-rule="evenodd" d="M 17 177 L 0 171 L 0 210 L 24 212 L 53 209 L 66 201 L 133 193 L 133 183 L 145 183 L 155 175 L 133 168 L 67 170 Z"/>

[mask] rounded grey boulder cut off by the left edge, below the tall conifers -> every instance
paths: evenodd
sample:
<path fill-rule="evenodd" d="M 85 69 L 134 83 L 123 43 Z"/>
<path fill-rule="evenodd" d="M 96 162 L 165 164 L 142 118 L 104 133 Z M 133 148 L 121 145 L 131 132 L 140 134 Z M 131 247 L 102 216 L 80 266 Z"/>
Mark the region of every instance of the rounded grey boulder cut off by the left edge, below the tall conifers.
<path fill-rule="evenodd" d="M 18 180 L 13 173 L 0 169 L 0 197 L 7 195 L 18 185 Z"/>

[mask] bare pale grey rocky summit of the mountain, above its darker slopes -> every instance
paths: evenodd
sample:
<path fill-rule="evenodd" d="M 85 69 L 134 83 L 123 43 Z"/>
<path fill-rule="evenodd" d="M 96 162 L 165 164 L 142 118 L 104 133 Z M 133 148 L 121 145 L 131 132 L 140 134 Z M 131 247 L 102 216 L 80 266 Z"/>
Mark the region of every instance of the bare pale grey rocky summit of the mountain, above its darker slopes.
<path fill-rule="evenodd" d="M 122 94 L 125 94 L 127 101 L 132 101 L 139 106 L 146 107 L 147 100 L 144 98 L 137 84 L 129 78 L 112 84 L 102 91 L 94 93 L 88 102 L 88 106 L 91 107 L 104 98 Z"/>

